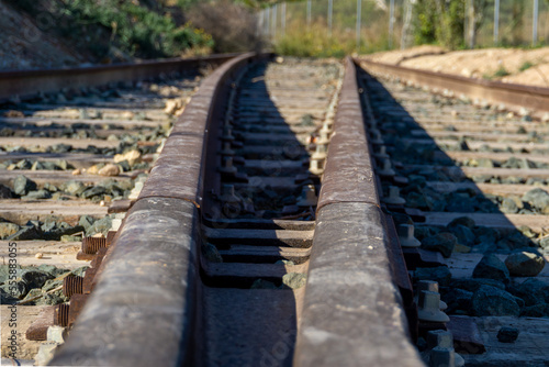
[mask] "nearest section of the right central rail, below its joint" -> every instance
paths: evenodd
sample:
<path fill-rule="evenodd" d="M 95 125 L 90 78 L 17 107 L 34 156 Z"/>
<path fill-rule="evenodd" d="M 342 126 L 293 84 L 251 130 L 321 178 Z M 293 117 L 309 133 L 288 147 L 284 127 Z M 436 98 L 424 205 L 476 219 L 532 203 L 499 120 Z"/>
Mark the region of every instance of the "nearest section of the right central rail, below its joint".
<path fill-rule="evenodd" d="M 381 210 L 334 203 L 317 213 L 296 366 L 423 366 L 393 283 Z"/>

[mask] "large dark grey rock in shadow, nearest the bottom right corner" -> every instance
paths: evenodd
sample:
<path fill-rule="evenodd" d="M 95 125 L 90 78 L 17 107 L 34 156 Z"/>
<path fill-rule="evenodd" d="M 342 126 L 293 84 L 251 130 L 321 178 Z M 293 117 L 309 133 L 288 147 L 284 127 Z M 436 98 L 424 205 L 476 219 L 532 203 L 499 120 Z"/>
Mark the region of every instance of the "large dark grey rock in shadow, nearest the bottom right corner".
<path fill-rule="evenodd" d="M 474 292 L 471 307 L 475 316 L 518 316 L 520 314 L 520 308 L 513 294 L 490 286 L 481 286 Z"/>

